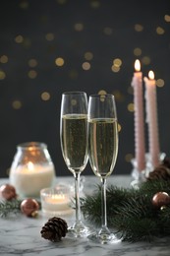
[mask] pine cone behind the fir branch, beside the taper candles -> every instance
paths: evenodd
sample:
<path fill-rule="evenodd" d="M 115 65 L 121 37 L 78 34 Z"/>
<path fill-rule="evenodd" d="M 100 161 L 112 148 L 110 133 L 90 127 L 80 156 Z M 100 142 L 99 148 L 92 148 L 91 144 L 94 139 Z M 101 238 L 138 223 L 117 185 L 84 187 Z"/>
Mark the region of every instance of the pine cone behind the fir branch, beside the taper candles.
<path fill-rule="evenodd" d="M 170 179 L 170 168 L 167 165 L 160 164 L 153 171 L 151 171 L 147 177 L 147 180 L 155 179 Z"/>

